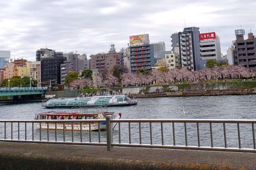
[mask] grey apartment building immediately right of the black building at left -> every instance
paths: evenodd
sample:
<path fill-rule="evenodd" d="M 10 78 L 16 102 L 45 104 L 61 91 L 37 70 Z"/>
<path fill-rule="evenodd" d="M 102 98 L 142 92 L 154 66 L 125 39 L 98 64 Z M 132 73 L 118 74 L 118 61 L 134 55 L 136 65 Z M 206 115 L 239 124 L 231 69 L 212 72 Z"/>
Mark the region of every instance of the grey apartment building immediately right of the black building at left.
<path fill-rule="evenodd" d="M 67 56 L 67 60 L 63 61 L 63 64 L 60 65 L 60 79 L 61 84 L 65 83 L 65 77 L 70 71 L 79 71 L 84 70 L 84 59 L 78 58 L 79 54 L 70 53 Z"/>

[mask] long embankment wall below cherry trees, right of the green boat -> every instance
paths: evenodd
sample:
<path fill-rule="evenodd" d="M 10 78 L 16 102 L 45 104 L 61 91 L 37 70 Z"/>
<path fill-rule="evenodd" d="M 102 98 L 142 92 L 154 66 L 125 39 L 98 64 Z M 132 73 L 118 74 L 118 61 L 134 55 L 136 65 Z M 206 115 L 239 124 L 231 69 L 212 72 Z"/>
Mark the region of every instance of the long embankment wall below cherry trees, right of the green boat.
<path fill-rule="evenodd" d="M 166 86 L 166 85 L 164 85 Z M 220 82 L 220 83 L 189 83 L 179 85 L 167 85 L 171 91 L 185 90 L 227 90 L 227 89 L 253 89 L 256 88 L 256 81 Z M 123 87 L 125 94 L 139 93 L 146 86 Z M 150 86 L 149 92 L 156 92 L 156 89 L 163 89 L 163 85 Z"/>

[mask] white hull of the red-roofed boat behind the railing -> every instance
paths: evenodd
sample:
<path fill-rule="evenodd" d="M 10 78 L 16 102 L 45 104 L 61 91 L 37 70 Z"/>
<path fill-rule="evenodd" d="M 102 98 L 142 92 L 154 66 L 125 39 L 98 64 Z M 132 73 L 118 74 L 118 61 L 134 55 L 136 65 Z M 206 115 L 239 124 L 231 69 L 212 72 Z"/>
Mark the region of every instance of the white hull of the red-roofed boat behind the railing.
<path fill-rule="evenodd" d="M 35 123 L 37 128 L 40 128 L 40 123 Z M 41 123 L 42 129 L 48 129 L 47 123 Z M 72 124 L 71 123 L 65 123 L 65 126 L 63 126 L 63 123 L 49 123 L 49 130 L 72 130 Z M 73 123 L 73 130 L 81 130 L 80 123 Z M 89 123 L 82 123 L 82 131 L 98 131 L 99 126 L 98 123 L 91 123 L 91 129 Z M 100 130 L 106 130 L 106 123 L 101 122 L 100 123 Z"/>

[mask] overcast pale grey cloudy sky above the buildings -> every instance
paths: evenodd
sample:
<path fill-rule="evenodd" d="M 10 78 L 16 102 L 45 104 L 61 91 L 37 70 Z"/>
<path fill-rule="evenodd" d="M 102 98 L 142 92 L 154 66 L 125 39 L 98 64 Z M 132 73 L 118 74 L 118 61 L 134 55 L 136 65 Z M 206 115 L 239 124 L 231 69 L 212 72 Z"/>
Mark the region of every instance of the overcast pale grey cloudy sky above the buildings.
<path fill-rule="evenodd" d="M 0 0 L 0 50 L 11 58 L 36 60 L 36 50 L 117 51 L 129 36 L 149 34 L 150 43 L 164 41 L 186 27 L 214 31 L 226 54 L 234 30 L 256 32 L 256 0 Z"/>

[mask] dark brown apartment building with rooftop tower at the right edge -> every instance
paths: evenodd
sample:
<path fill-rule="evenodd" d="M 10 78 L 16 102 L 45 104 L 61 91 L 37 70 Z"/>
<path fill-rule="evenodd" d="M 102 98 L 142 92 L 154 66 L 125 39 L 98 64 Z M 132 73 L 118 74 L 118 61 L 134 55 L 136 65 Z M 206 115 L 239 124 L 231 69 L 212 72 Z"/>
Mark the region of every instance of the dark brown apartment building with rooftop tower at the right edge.
<path fill-rule="evenodd" d="M 248 34 L 244 39 L 244 30 L 235 30 L 236 41 L 234 42 L 234 62 L 242 64 L 250 70 L 256 70 L 256 37 Z"/>

